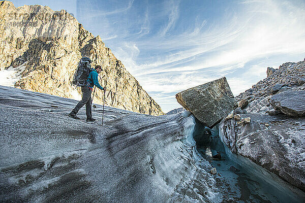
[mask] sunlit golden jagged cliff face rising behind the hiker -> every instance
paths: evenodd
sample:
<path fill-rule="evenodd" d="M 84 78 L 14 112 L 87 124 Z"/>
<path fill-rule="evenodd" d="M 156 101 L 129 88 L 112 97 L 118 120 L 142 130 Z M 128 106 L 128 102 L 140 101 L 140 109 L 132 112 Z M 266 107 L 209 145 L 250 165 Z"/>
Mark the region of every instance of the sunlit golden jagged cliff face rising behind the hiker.
<path fill-rule="evenodd" d="M 105 70 L 100 74 L 100 83 L 111 91 L 106 92 L 106 105 L 163 114 L 101 38 L 95 38 L 65 10 L 53 11 L 40 5 L 15 8 L 11 2 L 3 1 L 0 18 L 0 70 L 21 70 L 16 87 L 73 98 L 77 93 L 71 87 L 73 74 L 80 58 L 87 56 L 93 67 L 100 64 Z M 96 90 L 94 103 L 103 103 L 102 94 Z"/>

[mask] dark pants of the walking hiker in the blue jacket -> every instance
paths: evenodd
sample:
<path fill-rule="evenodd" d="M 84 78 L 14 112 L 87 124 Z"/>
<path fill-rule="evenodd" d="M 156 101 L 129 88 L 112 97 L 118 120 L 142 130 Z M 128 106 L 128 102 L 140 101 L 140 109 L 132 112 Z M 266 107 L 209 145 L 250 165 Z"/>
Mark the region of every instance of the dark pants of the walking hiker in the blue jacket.
<path fill-rule="evenodd" d="M 73 113 L 77 114 L 77 112 L 80 110 L 80 108 L 82 108 L 85 104 L 86 104 L 86 115 L 87 118 L 92 118 L 92 99 L 91 99 L 91 93 L 92 93 L 92 89 L 90 89 L 87 86 L 82 86 L 81 87 L 81 91 L 82 91 L 82 98 L 81 100 L 78 102 L 78 104 L 75 106 L 75 108 L 72 110 Z"/>

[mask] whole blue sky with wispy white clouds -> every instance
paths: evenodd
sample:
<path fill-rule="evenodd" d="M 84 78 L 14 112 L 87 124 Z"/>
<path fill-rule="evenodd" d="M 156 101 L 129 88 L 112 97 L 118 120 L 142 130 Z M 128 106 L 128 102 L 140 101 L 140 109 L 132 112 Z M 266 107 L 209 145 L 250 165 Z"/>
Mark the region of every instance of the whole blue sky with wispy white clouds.
<path fill-rule="evenodd" d="M 304 0 L 12 2 L 72 13 L 165 113 L 182 90 L 226 77 L 238 95 L 305 57 Z"/>

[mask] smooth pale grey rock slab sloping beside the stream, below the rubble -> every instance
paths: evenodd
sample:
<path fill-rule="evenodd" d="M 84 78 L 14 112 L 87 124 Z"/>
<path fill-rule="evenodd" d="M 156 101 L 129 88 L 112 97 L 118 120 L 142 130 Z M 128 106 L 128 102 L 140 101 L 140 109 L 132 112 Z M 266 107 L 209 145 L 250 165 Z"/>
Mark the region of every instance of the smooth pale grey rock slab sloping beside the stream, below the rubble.
<path fill-rule="evenodd" d="M 219 135 L 231 152 L 247 157 L 305 191 L 305 118 L 246 113 L 251 122 L 235 119 L 219 123 Z"/>

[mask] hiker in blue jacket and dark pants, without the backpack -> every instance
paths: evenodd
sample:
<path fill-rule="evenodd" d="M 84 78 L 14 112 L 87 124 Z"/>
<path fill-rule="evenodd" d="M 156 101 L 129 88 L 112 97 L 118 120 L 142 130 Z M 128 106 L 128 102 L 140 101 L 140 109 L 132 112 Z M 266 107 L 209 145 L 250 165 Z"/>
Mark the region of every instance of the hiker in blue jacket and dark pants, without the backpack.
<path fill-rule="evenodd" d="M 98 80 L 98 74 L 101 73 L 102 67 L 101 65 L 96 65 L 95 69 L 92 69 L 87 77 L 86 83 L 84 86 L 81 86 L 82 91 L 82 98 L 78 102 L 78 104 L 75 106 L 75 108 L 71 111 L 71 113 L 68 115 L 71 118 L 74 119 L 80 119 L 76 116 L 77 112 L 80 108 L 82 108 L 84 105 L 86 105 L 86 115 L 87 115 L 87 122 L 95 121 L 96 119 L 92 118 L 92 99 L 91 99 L 91 93 L 93 90 L 94 85 L 98 87 L 101 90 L 106 90 L 106 87 L 102 87 Z"/>

